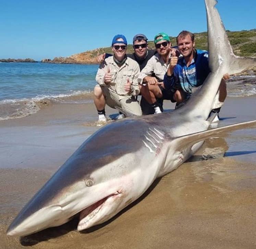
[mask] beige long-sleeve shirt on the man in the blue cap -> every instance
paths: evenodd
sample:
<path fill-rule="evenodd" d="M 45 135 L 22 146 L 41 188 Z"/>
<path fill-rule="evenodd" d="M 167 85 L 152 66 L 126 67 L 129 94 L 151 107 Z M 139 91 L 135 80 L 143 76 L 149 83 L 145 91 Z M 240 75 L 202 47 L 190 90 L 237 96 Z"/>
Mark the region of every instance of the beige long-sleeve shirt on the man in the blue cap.
<path fill-rule="evenodd" d="M 105 84 L 103 77 L 108 72 L 108 69 L 110 69 L 112 80 L 110 83 Z M 113 56 L 111 56 L 100 64 L 96 74 L 96 82 L 100 86 L 109 87 L 112 91 L 116 92 L 120 96 L 136 96 L 139 94 L 139 72 L 138 63 L 131 58 L 127 58 L 125 63 L 119 67 L 113 60 Z M 132 85 L 132 90 L 130 93 L 124 90 L 124 85 L 127 82 L 127 78 L 129 78 Z"/>

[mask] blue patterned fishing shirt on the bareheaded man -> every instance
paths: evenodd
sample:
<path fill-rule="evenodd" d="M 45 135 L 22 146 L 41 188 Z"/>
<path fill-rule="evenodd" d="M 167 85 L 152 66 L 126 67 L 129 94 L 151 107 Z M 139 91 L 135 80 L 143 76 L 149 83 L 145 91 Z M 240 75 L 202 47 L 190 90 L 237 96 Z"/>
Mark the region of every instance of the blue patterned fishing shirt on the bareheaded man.
<path fill-rule="evenodd" d="M 195 57 L 188 67 L 182 57 L 174 67 L 173 74 L 171 76 L 168 76 L 167 73 L 164 75 L 164 87 L 170 94 L 173 94 L 176 89 L 182 88 L 187 96 L 190 96 L 192 87 L 202 85 L 209 73 L 208 52 L 196 49 Z"/>

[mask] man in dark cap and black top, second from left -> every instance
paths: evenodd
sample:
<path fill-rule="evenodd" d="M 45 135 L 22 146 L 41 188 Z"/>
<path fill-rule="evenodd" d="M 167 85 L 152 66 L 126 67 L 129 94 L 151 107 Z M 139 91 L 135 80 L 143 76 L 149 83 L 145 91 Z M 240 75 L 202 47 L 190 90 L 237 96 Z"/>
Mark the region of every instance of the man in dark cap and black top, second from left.
<path fill-rule="evenodd" d="M 144 34 L 137 34 L 133 37 L 133 49 L 134 53 L 127 54 L 127 57 L 135 60 L 139 64 L 139 68 L 142 69 L 146 66 L 148 60 L 157 52 L 155 49 L 148 49 L 148 39 Z M 112 56 L 112 54 L 101 54 L 97 57 L 99 63 L 102 63 L 106 58 Z M 154 76 L 154 75 L 153 75 Z M 162 102 L 159 99 L 160 103 Z M 141 108 L 144 115 L 153 114 L 155 109 L 142 97 Z"/>

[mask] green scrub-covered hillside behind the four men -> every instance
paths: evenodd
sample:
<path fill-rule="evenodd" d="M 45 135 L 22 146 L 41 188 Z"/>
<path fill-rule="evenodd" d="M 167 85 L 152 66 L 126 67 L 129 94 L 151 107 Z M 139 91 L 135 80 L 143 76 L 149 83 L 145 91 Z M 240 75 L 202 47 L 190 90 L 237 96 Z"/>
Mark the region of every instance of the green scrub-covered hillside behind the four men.
<path fill-rule="evenodd" d="M 234 54 L 239 56 L 256 57 L 256 29 L 242 30 L 242 31 L 230 31 L 227 30 L 227 35 L 230 44 L 233 48 Z M 170 37 L 172 46 L 176 46 L 176 37 Z M 196 48 L 207 50 L 208 39 L 207 32 L 195 33 Z M 154 41 L 148 41 L 149 49 L 154 49 Z M 112 53 L 111 47 L 98 48 L 89 53 L 91 58 L 95 58 L 98 54 Z M 127 53 L 133 53 L 132 45 L 128 45 Z"/>

